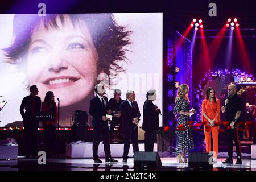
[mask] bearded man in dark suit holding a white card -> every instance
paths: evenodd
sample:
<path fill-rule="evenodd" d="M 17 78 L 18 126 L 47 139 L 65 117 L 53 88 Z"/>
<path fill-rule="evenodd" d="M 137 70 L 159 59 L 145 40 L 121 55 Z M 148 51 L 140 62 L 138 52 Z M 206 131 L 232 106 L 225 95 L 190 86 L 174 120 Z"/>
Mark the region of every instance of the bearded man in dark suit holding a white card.
<path fill-rule="evenodd" d="M 93 160 L 95 163 L 102 163 L 98 158 L 98 145 L 100 144 L 101 135 L 103 135 L 104 152 L 106 162 L 118 162 L 111 157 L 109 143 L 109 125 L 106 114 L 111 114 L 108 109 L 108 98 L 104 96 L 104 85 L 98 84 L 94 87 L 97 96 L 90 100 L 89 114 L 93 117 Z"/>

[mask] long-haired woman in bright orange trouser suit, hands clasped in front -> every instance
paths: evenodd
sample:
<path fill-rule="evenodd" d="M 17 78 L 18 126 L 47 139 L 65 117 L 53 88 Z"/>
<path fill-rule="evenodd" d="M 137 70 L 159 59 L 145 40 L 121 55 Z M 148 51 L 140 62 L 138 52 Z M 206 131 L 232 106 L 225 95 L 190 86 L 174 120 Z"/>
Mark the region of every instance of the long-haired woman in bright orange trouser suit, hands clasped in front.
<path fill-rule="evenodd" d="M 216 162 L 218 157 L 218 125 L 216 124 L 220 123 L 220 100 L 215 97 L 215 90 L 211 87 L 207 88 L 206 98 L 202 103 L 202 121 L 205 123 L 206 152 L 212 151 L 211 140 L 213 139 L 213 161 Z M 205 130 L 205 126 L 210 127 Z"/>

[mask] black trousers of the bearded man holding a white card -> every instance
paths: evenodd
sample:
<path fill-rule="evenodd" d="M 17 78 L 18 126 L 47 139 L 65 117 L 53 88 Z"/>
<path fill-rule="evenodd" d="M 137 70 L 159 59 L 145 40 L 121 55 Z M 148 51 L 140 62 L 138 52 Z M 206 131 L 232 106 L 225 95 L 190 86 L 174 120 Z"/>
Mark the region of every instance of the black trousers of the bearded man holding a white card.
<path fill-rule="evenodd" d="M 105 157 L 111 158 L 108 123 L 97 123 L 93 128 L 93 159 L 98 159 L 98 145 L 101 141 L 101 135 L 103 135 Z"/>

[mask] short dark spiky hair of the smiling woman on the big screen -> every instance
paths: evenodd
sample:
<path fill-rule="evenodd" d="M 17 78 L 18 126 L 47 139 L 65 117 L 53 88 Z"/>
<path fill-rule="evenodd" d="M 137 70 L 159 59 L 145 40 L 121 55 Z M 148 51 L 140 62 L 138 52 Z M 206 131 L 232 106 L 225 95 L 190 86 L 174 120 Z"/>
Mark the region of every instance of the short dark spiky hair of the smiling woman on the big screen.
<path fill-rule="evenodd" d="M 125 71 L 118 63 L 127 62 L 125 56 L 127 49 L 124 47 L 131 44 L 129 39 L 131 31 L 119 26 L 113 14 L 46 14 L 46 16 L 16 14 L 13 20 L 13 43 L 10 47 L 3 49 L 7 63 L 17 64 L 22 69 L 20 63 L 27 59 L 31 35 L 35 28 L 41 22 L 46 28 L 59 28 L 57 18 L 64 24 L 67 17 L 71 19 L 74 27 L 79 26 L 80 21 L 86 23 L 98 53 L 98 73 L 103 70 L 108 75 L 110 87 L 110 69 L 115 69 L 115 76 Z"/>

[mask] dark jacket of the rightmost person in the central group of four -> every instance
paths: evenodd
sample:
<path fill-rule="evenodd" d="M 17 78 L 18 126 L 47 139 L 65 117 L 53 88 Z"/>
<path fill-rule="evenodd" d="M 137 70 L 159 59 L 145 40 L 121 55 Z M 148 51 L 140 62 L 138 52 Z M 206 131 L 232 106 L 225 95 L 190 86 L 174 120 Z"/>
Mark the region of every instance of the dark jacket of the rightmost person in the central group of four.
<path fill-rule="evenodd" d="M 155 105 L 152 101 L 146 100 L 143 105 L 143 130 L 157 130 L 159 127 L 159 117 L 160 110 L 156 110 Z"/>

